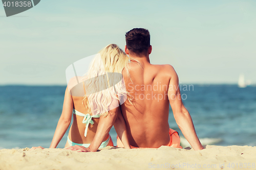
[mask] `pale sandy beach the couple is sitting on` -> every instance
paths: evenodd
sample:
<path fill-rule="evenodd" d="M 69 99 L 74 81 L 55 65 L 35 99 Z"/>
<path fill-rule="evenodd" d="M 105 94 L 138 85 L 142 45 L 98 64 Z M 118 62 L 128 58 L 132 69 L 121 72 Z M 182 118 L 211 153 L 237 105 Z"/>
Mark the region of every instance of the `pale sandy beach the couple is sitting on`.
<path fill-rule="evenodd" d="M 256 147 L 206 145 L 202 151 L 106 147 L 94 153 L 65 149 L 2 149 L 0 169 L 255 169 Z"/>

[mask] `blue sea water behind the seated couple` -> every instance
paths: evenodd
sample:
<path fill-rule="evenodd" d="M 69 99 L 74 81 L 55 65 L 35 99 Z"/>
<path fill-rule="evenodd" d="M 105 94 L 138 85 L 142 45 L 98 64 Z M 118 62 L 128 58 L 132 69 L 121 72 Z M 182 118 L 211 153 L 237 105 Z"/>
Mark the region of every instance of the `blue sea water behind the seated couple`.
<path fill-rule="evenodd" d="M 61 115 L 66 86 L 0 86 L 0 149 L 49 148 Z M 256 145 L 256 87 L 180 86 L 183 103 L 203 144 Z M 181 136 L 172 109 L 169 125 Z M 111 129 L 116 144 L 116 133 Z M 60 141 L 63 148 L 68 131 Z"/>

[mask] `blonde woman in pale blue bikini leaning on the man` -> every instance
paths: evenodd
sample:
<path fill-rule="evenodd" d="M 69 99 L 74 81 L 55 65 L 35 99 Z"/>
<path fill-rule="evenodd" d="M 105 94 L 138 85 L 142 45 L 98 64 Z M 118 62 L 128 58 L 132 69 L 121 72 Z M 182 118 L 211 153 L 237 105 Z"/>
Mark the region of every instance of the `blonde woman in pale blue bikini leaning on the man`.
<path fill-rule="evenodd" d="M 120 100 L 127 95 L 121 72 L 126 68 L 128 62 L 129 58 L 116 44 L 107 45 L 93 59 L 86 76 L 76 77 L 69 82 L 62 113 L 50 148 L 57 147 L 68 130 L 73 115 L 73 124 L 69 130 L 65 148 L 74 145 L 88 148 L 94 138 L 97 141 L 102 141 L 101 143 L 95 142 L 94 151 L 108 145 L 113 146 L 110 134 L 103 136 L 102 139 L 99 137 L 102 135 L 96 136 L 96 131 L 100 125 L 108 121 L 115 121 L 114 127 L 118 136 L 122 137 L 124 148 L 130 149 L 124 119 L 119 108 Z M 77 81 L 83 88 L 72 88 L 72 84 Z M 81 92 L 83 95 L 77 95 Z M 111 126 L 103 131 L 109 132 L 110 129 Z M 36 148 L 42 147 L 33 147 L 32 150 Z"/>

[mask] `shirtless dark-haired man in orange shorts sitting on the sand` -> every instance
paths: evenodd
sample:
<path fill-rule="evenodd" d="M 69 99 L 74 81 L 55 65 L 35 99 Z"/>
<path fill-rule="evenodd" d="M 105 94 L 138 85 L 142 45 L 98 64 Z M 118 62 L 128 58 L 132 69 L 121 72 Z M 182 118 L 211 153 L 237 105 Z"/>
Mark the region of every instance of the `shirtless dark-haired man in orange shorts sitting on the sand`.
<path fill-rule="evenodd" d="M 197 137 L 193 121 L 182 103 L 179 80 L 173 66 L 150 63 L 152 46 L 148 30 L 133 29 L 126 33 L 125 39 L 125 53 L 130 56 L 131 63 L 129 72 L 123 70 L 122 75 L 133 102 L 131 104 L 125 101 L 121 105 L 121 111 L 131 148 L 159 148 L 161 145 L 182 148 L 178 133 L 169 128 L 170 104 L 184 137 L 194 150 L 202 150 L 203 146 Z M 89 149 L 70 149 L 80 149 L 83 152 L 97 151 L 99 143 L 113 126 L 114 119 L 123 119 L 114 112 L 117 111 L 102 118 L 102 124 L 98 127 Z M 119 138 L 117 146 L 122 147 Z"/>

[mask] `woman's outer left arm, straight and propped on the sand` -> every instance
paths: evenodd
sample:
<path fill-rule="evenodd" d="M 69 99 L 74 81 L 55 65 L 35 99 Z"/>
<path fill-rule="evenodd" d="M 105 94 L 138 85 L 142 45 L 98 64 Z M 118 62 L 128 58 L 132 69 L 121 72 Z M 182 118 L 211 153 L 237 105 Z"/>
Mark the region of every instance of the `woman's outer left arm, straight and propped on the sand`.
<path fill-rule="evenodd" d="M 72 110 L 73 110 L 73 99 L 67 87 L 65 91 L 65 98 L 63 102 L 62 113 L 59 118 L 50 148 L 56 148 L 57 145 L 59 144 L 59 141 L 62 139 L 62 137 L 65 135 L 66 131 L 68 130 L 71 119 L 72 119 Z"/>

